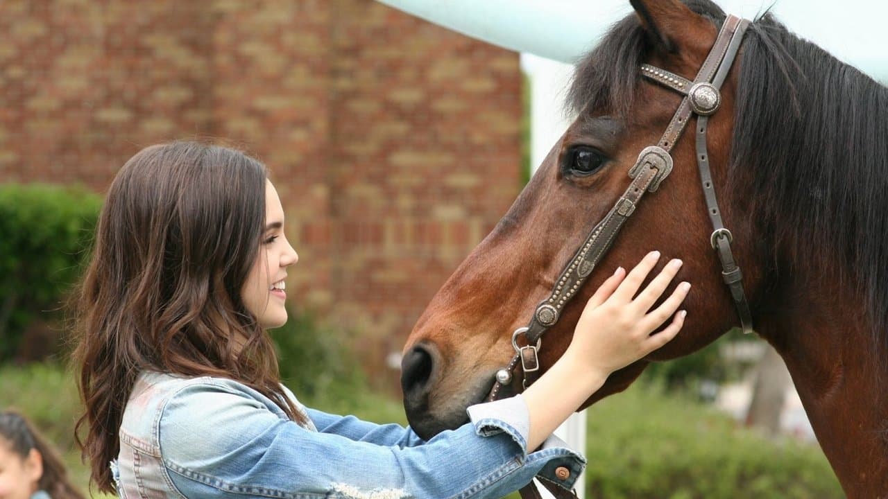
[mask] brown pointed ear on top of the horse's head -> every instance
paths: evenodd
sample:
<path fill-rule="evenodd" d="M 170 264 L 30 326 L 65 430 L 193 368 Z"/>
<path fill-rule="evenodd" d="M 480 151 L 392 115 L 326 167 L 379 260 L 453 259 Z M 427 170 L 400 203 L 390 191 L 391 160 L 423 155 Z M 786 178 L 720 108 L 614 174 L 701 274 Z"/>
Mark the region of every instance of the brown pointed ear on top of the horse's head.
<path fill-rule="evenodd" d="M 679 0 L 630 0 L 630 4 L 655 51 L 663 54 L 694 52 L 701 48 L 709 51 L 708 46 L 698 45 L 701 39 L 711 45 L 715 28 L 686 4 Z"/>

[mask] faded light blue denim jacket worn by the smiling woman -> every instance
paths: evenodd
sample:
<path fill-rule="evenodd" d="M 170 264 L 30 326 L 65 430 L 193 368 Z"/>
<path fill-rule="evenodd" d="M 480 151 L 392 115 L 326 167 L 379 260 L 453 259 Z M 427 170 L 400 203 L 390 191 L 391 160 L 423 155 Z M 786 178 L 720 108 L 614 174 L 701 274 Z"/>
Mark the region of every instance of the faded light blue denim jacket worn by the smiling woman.
<path fill-rule="evenodd" d="M 556 437 L 527 452 L 520 396 L 472 406 L 470 423 L 426 441 L 398 424 L 306 409 L 287 393 L 305 411 L 305 426 L 229 379 L 142 373 L 111 463 L 118 493 L 127 499 L 502 497 L 535 475 L 573 487 L 585 465 Z"/>

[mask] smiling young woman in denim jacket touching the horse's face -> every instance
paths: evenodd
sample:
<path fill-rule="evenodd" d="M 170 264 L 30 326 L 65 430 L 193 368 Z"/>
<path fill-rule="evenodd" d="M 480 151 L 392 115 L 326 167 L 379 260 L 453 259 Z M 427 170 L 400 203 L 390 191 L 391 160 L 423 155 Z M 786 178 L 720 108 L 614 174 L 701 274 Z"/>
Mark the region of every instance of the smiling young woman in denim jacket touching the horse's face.
<path fill-rule="evenodd" d="M 500 497 L 556 466 L 576 471 L 570 487 L 583 458 L 551 432 L 612 371 L 678 333 L 689 288 L 648 312 L 681 262 L 640 293 L 659 254 L 617 269 L 527 392 L 472 406 L 469 423 L 424 441 L 306 409 L 280 384 L 267 330 L 287 321 L 284 281 L 298 257 L 260 162 L 194 142 L 147 147 L 117 174 L 93 251 L 79 302 L 78 426 L 92 480 L 128 498 Z"/>

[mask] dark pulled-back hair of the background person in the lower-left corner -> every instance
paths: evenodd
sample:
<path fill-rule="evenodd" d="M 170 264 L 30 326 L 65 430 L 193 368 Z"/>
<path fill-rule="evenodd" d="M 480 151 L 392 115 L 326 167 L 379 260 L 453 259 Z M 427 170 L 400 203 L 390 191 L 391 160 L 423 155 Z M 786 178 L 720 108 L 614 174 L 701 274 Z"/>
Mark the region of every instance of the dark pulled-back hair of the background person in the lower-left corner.
<path fill-rule="evenodd" d="M 40 453 L 44 473 L 37 480 L 37 487 L 52 499 L 83 499 L 67 478 L 65 464 L 43 435 L 36 431 L 28 418 L 13 410 L 0 412 L 0 441 L 9 444 L 12 453 L 26 459 L 31 449 Z"/>

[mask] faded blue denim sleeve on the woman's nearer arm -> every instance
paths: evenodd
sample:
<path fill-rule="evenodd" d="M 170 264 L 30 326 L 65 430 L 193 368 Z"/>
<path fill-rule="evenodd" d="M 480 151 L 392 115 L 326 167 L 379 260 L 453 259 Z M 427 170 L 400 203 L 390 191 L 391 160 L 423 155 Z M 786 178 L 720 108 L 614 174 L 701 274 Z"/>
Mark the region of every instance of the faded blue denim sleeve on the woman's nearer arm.
<path fill-rule="evenodd" d="M 507 428 L 519 434 L 520 424 L 500 416 L 400 448 L 313 432 L 249 394 L 191 384 L 168 401 L 157 438 L 170 482 L 185 497 L 495 498 L 568 456 L 582 467 L 567 448 L 527 454 L 519 443 L 527 433 L 516 439 Z M 561 483 L 571 487 L 575 476 Z"/>

